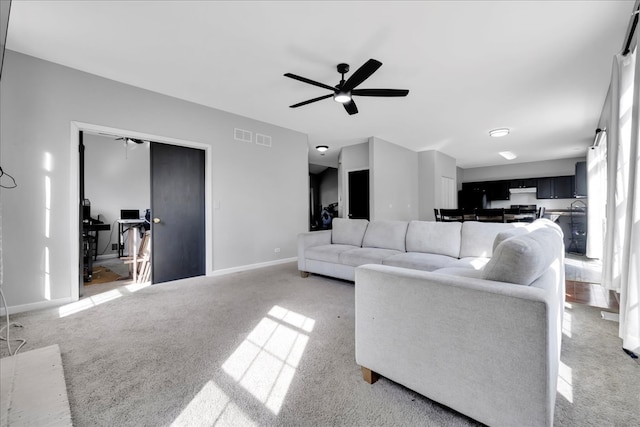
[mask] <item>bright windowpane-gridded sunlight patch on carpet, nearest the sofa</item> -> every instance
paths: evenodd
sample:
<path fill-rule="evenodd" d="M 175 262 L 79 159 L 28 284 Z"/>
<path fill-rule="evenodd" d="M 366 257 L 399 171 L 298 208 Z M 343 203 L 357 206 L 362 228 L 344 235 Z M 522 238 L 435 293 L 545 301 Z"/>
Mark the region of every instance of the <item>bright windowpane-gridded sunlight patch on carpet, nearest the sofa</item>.
<path fill-rule="evenodd" d="M 311 318 L 274 306 L 222 369 L 278 414 L 314 325 Z"/>

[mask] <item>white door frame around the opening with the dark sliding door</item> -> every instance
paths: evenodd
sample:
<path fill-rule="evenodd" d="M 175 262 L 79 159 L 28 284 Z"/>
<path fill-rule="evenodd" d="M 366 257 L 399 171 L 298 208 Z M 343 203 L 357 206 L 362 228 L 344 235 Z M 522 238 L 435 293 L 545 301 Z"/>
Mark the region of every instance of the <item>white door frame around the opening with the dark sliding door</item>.
<path fill-rule="evenodd" d="M 69 197 L 69 239 L 68 246 L 70 256 L 69 269 L 71 271 L 71 283 L 70 294 L 73 301 L 80 299 L 80 280 L 82 271 L 80 269 L 80 253 L 78 250 L 78 242 L 80 241 L 80 210 L 79 210 L 79 198 L 80 198 L 80 132 L 88 134 L 107 134 L 117 135 L 125 138 L 137 138 L 144 140 L 151 140 L 161 144 L 177 145 L 181 147 L 196 148 L 204 151 L 205 156 L 205 194 L 204 194 L 204 207 L 205 207 L 205 274 L 210 276 L 213 273 L 213 260 L 211 259 L 213 248 L 213 211 L 212 211 L 212 164 L 213 164 L 213 147 L 208 144 L 200 142 L 189 141 L 185 139 L 171 138 L 167 136 L 153 135 L 148 133 L 142 133 L 127 129 L 120 129 L 102 125 L 96 125 L 93 123 L 83 123 L 78 121 L 71 122 L 71 134 L 70 134 L 70 156 L 71 165 L 69 173 L 70 181 L 70 197 Z M 151 191 L 151 190 L 149 190 Z"/>

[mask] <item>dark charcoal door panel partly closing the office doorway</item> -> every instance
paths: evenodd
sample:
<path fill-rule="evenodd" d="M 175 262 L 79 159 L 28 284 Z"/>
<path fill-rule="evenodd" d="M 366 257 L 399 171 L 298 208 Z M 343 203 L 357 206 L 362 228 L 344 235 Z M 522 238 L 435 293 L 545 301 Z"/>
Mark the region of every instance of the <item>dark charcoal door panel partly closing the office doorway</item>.
<path fill-rule="evenodd" d="M 152 283 L 205 274 L 203 150 L 151 143 Z"/>

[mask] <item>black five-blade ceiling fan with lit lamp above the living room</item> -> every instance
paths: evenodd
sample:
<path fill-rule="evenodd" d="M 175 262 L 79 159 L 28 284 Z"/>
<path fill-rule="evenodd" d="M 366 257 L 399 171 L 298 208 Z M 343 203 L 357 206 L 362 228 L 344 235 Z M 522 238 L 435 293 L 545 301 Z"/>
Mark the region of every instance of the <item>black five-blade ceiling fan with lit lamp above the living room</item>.
<path fill-rule="evenodd" d="M 358 68 L 346 81 L 344 75 L 349 72 L 349 64 L 338 64 L 338 73 L 342 74 L 340 83 L 336 86 L 329 86 L 324 83 L 316 82 L 314 80 L 307 79 L 306 77 L 300 77 L 295 74 L 286 73 L 285 77 L 289 77 L 301 82 L 308 83 L 310 85 L 318 86 L 324 89 L 330 90 L 332 93 L 328 95 L 319 96 L 317 98 L 302 101 L 297 104 L 290 105 L 290 108 L 298 108 L 303 105 L 311 104 L 312 102 L 322 101 L 323 99 L 333 97 L 334 101 L 341 103 L 344 109 L 347 110 L 349 115 L 357 114 L 358 107 L 353 102 L 352 96 L 382 96 L 382 97 L 395 97 L 395 96 L 407 96 L 409 91 L 407 89 L 356 89 L 360 83 L 368 79 L 378 68 L 382 65 L 382 62 L 375 59 L 369 59 L 360 68 Z"/>

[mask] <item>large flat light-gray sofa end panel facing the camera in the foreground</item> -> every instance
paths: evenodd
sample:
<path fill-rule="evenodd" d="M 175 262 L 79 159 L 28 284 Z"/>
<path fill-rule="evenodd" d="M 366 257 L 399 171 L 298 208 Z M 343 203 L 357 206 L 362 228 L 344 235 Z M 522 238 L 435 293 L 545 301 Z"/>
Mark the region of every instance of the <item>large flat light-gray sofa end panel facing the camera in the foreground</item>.
<path fill-rule="evenodd" d="M 359 365 L 488 425 L 553 424 L 553 292 L 384 265 L 355 282 Z"/>

